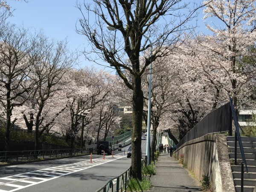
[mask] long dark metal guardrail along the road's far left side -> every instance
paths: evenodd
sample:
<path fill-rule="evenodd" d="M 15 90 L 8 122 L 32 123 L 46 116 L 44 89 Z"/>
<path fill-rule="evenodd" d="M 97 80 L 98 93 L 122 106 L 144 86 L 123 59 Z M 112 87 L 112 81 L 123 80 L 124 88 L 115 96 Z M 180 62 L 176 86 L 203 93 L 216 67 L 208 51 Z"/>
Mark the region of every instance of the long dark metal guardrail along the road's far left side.
<path fill-rule="evenodd" d="M 52 159 L 71 155 L 90 154 L 95 148 L 52 149 L 32 151 L 0 151 L 0 162 L 23 162 L 35 159 Z"/>

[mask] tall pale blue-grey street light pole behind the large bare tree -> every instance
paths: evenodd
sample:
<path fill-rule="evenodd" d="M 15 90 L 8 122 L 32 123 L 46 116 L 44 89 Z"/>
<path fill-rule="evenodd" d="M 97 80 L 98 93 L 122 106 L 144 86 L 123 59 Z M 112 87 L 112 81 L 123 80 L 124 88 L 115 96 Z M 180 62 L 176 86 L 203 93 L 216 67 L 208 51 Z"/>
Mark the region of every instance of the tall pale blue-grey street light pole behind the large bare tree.
<path fill-rule="evenodd" d="M 116 28 L 114 27 L 111 27 L 111 26 L 107 26 L 108 30 L 110 31 L 114 31 L 116 30 Z M 147 38 L 147 40 L 149 41 L 149 43 L 151 44 L 151 41 L 150 39 L 146 36 L 146 35 L 143 35 L 143 37 Z M 150 57 L 152 56 L 152 46 L 150 47 Z M 150 155 L 150 151 L 149 151 L 149 148 L 150 148 L 150 113 L 151 113 L 151 71 L 152 71 L 152 63 L 150 61 L 150 69 L 149 69 L 149 84 L 148 84 L 148 123 L 147 123 L 147 157 L 148 157 L 148 160 L 147 160 L 147 165 L 149 165 L 150 161 L 149 161 L 149 155 Z"/>

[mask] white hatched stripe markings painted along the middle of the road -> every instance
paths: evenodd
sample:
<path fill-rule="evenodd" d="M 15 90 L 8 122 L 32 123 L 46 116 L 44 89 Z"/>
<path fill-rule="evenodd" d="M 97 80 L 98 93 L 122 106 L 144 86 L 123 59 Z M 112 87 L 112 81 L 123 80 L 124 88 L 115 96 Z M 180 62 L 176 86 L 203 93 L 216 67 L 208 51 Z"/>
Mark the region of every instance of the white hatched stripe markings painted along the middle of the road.
<path fill-rule="evenodd" d="M 117 159 L 120 159 L 123 157 L 125 157 L 125 156 L 124 155 L 116 155 L 116 157 L 105 157 L 105 160 L 103 160 L 102 158 L 97 158 L 97 159 L 93 159 L 92 163 L 90 163 L 90 160 L 85 160 L 85 161 L 81 161 L 78 163 L 72 163 L 72 164 L 68 164 L 68 165 L 51 167 L 51 168 L 47 168 L 47 169 L 26 172 L 23 174 L 17 174 L 17 175 L 12 175 L 12 176 L 8 176 L 8 177 L 2 177 L 2 178 L 0 178 L 0 180 L 1 181 L 6 180 L 6 182 L 0 182 L 0 192 L 17 191 L 19 189 L 23 189 L 28 186 L 36 185 L 38 183 L 43 183 L 48 180 L 62 177 L 64 175 L 69 175 L 71 173 L 79 172 L 81 170 L 88 169 L 90 167 L 99 166 L 104 163 L 108 163 L 108 162 L 111 162 L 113 160 L 117 160 Z M 20 178 L 17 179 L 17 177 L 20 177 Z M 31 180 L 29 180 L 29 179 L 31 179 Z M 36 182 L 35 180 L 38 180 L 38 182 Z M 17 183 L 17 182 L 27 183 L 28 185 L 21 186 L 21 185 L 18 185 L 20 183 Z M 115 184 L 116 184 L 116 180 L 113 180 L 113 185 L 115 185 Z M 15 189 L 6 191 L 6 190 L 1 189 L 1 186 L 11 186 L 11 187 L 15 187 Z"/>

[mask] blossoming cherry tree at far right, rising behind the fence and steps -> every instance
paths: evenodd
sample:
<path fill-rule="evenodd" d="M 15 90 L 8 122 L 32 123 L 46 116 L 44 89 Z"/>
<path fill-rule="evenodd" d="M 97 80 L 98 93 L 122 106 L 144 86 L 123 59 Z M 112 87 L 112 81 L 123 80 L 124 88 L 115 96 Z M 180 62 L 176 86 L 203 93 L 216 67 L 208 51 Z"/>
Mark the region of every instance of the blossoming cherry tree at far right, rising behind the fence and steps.
<path fill-rule="evenodd" d="M 201 66 L 206 76 L 221 84 L 232 96 L 238 114 L 247 94 L 244 87 L 255 79 L 255 66 L 243 62 L 242 58 L 250 55 L 249 47 L 253 47 L 256 40 L 256 1 L 207 0 L 204 3 L 204 19 L 207 21 L 207 18 L 213 17 L 215 20 L 212 24 L 206 22 L 207 29 L 213 35 L 205 35 L 197 41 L 202 46 L 201 50 L 209 52 L 211 59 L 211 67 L 202 60 Z M 212 71 L 212 68 L 215 70 Z"/>

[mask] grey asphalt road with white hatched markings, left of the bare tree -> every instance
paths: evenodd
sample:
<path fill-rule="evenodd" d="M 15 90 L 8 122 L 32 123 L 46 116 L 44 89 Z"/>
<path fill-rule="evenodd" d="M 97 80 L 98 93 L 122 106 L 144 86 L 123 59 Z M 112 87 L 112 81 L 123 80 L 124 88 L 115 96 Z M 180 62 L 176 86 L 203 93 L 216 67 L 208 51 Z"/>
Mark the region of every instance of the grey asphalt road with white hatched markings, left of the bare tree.
<path fill-rule="evenodd" d="M 0 192 L 95 192 L 131 166 L 127 148 L 93 155 L 0 167 Z M 124 154 L 125 150 L 125 154 Z M 146 140 L 142 140 L 143 156 Z"/>

